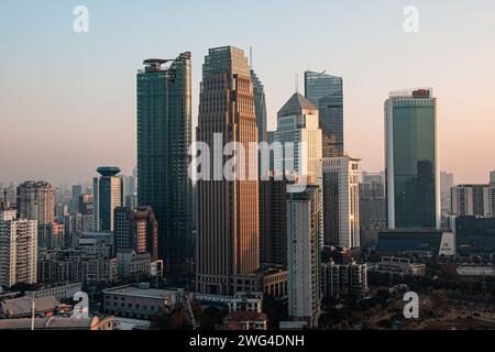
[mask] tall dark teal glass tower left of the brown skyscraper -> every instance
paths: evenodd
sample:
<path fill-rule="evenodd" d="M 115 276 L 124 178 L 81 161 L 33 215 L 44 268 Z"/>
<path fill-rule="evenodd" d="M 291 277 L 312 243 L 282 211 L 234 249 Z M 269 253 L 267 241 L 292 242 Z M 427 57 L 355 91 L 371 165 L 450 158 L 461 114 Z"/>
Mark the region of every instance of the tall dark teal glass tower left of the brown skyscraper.
<path fill-rule="evenodd" d="M 144 65 L 138 73 L 138 202 L 152 207 L 160 257 L 180 274 L 182 265 L 194 258 L 190 53 Z"/>

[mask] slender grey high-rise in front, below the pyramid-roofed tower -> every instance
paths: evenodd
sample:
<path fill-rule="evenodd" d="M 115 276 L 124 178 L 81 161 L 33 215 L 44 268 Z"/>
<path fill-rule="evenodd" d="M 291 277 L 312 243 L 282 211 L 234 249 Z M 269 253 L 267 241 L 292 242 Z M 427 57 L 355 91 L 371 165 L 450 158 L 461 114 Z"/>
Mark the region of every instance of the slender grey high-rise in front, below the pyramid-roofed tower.
<path fill-rule="evenodd" d="M 287 200 L 287 295 L 289 318 L 310 327 L 318 327 L 321 308 L 321 191 L 308 186 Z"/>

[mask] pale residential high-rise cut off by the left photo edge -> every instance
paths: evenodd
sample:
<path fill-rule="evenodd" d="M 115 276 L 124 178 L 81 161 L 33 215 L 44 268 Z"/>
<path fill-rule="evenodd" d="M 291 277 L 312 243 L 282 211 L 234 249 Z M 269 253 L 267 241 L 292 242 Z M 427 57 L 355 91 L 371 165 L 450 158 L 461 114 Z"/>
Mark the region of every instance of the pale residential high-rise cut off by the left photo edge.
<path fill-rule="evenodd" d="M 37 221 L 0 209 L 0 285 L 35 284 L 36 274 Z"/>

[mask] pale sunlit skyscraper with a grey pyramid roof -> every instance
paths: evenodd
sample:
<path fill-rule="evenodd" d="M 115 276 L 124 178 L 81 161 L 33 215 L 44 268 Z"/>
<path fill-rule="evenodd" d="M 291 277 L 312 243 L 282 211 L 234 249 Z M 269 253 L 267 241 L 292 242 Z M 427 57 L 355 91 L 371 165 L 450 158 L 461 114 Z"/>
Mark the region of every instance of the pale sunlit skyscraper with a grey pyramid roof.
<path fill-rule="evenodd" d="M 275 150 L 275 172 L 295 170 L 308 176 L 309 183 L 321 182 L 321 130 L 318 127 L 318 109 L 300 94 L 294 94 L 277 114 L 275 142 L 284 146 L 284 155 Z M 294 143 L 294 154 L 286 146 Z"/>

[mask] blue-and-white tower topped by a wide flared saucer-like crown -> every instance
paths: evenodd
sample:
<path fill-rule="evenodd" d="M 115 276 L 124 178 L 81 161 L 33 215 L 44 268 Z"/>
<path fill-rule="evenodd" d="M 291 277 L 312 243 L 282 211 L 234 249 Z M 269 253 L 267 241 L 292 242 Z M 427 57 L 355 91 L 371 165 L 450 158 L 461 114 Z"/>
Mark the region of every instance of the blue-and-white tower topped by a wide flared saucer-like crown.
<path fill-rule="evenodd" d="M 99 167 L 92 178 L 92 231 L 113 231 L 113 210 L 122 207 L 122 179 L 119 167 Z"/>

